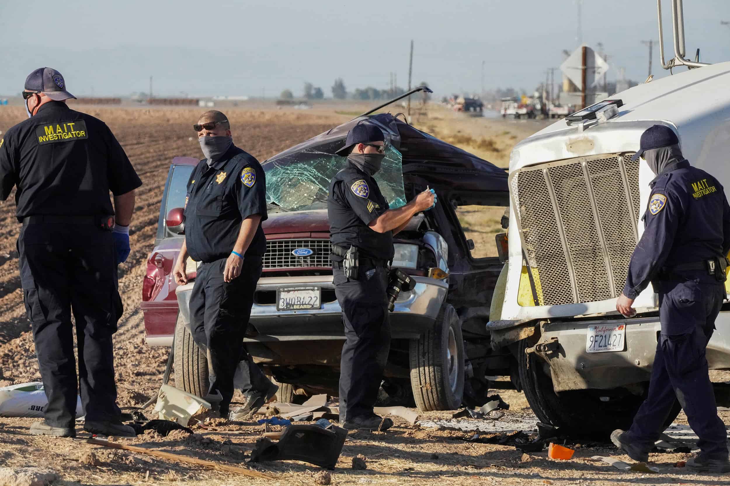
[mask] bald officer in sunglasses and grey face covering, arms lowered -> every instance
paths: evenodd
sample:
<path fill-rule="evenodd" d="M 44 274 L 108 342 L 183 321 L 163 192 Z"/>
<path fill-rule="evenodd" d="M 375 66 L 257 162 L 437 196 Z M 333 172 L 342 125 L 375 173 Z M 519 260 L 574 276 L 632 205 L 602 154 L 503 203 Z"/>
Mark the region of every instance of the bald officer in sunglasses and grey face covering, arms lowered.
<path fill-rule="evenodd" d="M 266 178 L 258 160 L 233 144 L 226 115 L 206 111 L 193 128 L 205 158 L 188 181 L 185 241 L 174 276 L 184 285 L 188 255 L 201 262 L 190 315 L 193 340 L 210 351 L 208 397 L 220 399 L 220 416 L 228 418 L 240 362 L 244 415 L 250 417 L 279 388 L 266 379 L 243 346 L 266 252 L 261 229 L 266 220 Z"/>

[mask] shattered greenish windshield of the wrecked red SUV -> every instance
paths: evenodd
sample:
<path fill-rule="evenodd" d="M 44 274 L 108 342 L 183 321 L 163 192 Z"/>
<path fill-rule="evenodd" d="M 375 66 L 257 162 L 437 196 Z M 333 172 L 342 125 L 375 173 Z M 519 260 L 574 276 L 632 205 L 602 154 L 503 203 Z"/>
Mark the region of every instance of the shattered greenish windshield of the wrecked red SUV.
<path fill-rule="evenodd" d="M 339 145 L 341 143 L 334 141 L 266 162 L 264 171 L 269 212 L 326 209 L 329 182 L 345 167 L 345 157 L 328 153 L 334 152 Z M 406 203 L 402 162 L 401 153 L 386 143 L 383 167 L 374 179 L 391 209 Z"/>

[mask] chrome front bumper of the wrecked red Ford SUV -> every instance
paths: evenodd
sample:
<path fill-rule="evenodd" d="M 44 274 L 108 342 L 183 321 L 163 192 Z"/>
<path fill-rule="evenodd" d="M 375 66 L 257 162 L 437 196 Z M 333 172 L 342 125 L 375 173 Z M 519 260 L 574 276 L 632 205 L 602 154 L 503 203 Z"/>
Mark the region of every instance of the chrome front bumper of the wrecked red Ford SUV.
<path fill-rule="evenodd" d="M 396 308 L 391 313 L 391 334 L 393 338 L 415 339 L 431 329 L 442 303 L 446 299 L 448 284 L 434 278 L 415 276 L 415 288 L 401 292 Z M 263 277 L 258 281 L 256 291 L 275 291 L 282 286 L 310 285 L 334 290 L 331 275 L 324 275 L 316 281 L 312 277 Z M 177 302 L 183 321 L 190 323 L 190 297 L 193 283 L 177 287 Z M 320 309 L 277 310 L 276 304 L 257 304 L 251 308 L 250 324 L 258 334 L 246 338 L 245 342 L 280 342 L 345 340 L 342 326 L 342 308 L 337 300 L 323 302 Z M 164 338 L 161 338 L 161 340 Z M 159 344 L 162 341 L 158 340 Z M 169 344 L 172 345 L 172 337 Z"/>

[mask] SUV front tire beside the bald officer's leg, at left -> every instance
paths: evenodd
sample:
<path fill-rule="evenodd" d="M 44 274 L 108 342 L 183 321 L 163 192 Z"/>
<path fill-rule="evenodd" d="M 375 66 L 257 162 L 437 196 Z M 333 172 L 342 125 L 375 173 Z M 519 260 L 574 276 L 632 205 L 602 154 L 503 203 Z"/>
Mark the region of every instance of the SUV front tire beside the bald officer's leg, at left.
<path fill-rule="evenodd" d="M 174 343 L 175 386 L 195 396 L 206 396 L 208 381 L 208 358 L 195 341 L 193 334 L 183 322 L 183 315 L 177 314 Z"/>

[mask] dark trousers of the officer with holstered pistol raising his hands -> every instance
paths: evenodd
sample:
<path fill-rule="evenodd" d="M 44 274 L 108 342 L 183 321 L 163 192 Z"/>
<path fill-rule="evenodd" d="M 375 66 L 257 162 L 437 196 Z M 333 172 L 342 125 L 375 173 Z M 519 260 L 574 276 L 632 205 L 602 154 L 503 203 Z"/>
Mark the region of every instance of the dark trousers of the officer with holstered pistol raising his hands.
<path fill-rule="evenodd" d="M 334 293 L 342 307 L 345 345 L 339 368 L 339 420 L 369 418 L 391 349 L 388 269 L 361 259 L 358 280 L 348 281 L 333 262 Z"/>

